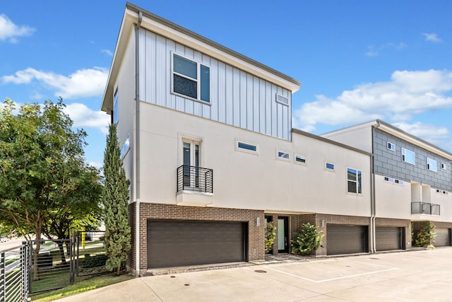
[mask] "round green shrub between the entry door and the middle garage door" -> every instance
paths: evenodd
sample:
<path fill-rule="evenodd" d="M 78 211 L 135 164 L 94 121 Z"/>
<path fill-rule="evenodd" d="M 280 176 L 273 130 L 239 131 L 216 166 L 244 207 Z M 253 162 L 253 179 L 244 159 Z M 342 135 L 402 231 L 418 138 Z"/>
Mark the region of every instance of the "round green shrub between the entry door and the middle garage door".
<path fill-rule="evenodd" d="M 317 231 L 317 227 L 311 223 L 304 223 L 300 233 L 295 233 L 295 240 L 292 240 L 292 252 L 297 255 L 311 255 L 322 244 L 322 231 Z"/>

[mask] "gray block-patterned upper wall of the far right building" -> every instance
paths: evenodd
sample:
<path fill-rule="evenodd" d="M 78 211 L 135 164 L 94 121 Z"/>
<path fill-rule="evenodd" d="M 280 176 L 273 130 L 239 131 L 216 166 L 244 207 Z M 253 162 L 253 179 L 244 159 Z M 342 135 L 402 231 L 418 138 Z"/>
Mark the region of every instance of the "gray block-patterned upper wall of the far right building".
<path fill-rule="evenodd" d="M 388 141 L 396 145 L 395 151 L 388 150 Z M 402 161 L 402 148 L 415 152 L 415 165 Z M 437 172 L 427 170 L 427 157 L 438 163 Z M 446 165 L 446 170 L 441 169 L 441 163 Z M 374 167 L 375 174 L 405 182 L 414 180 L 435 189 L 452 192 L 452 166 L 446 158 L 379 129 L 375 129 L 374 132 Z"/>

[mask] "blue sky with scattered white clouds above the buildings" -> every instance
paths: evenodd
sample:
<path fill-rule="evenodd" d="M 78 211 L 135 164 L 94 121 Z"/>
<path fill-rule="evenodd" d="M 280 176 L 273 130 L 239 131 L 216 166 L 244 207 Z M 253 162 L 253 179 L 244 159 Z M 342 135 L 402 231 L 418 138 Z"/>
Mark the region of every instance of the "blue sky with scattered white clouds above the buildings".
<path fill-rule="evenodd" d="M 0 98 L 56 101 L 102 165 L 100 112 L 125 1 L 1 1 Z M 293 126 L 379 118 L 452 151 L 452 2 L 180 1 L 133 4 L 302 82 Z"/>

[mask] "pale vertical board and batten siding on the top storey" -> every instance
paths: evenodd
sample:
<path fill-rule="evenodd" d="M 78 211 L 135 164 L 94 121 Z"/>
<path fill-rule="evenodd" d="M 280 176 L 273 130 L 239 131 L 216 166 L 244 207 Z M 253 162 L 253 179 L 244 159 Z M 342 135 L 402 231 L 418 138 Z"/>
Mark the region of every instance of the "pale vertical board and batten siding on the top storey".
<path fill-rule="evenodd" d="M 173 40 L 140 29 L 141 100 L 290 140 L 292 93 Z M 171 93 L 172 52 L 210 67 L 210 105 Z M 276 102 L 276 94 L 289 106 Z"/>

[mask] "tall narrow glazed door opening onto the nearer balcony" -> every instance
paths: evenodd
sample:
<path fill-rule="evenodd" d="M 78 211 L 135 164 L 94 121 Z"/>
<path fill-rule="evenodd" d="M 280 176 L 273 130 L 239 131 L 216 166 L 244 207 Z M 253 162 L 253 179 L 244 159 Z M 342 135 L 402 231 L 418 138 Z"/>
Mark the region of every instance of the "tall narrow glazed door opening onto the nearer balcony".
<path fill-rule="evenodd" d="M 184 187 L 191 187 L 192 190 L 199 187 L 199 161 L 200 143 L 199 141 L 182 141 L 182 156 L 184 161 Z"/>

